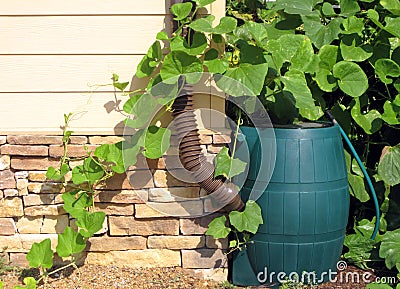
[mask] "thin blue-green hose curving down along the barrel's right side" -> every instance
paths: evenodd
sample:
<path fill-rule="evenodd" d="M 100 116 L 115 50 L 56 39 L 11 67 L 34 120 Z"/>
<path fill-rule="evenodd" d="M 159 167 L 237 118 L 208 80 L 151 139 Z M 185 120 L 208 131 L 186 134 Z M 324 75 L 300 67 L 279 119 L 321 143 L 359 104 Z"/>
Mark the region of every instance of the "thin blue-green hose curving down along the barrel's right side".
<path fill-rule="evenodd" d="M 346 141 L 348 147 L 350 148 L 354 158 L 356 159 L 358 165 L 361 168 L 361 171 L 363 172 L 365 179 L 367 180 L 368 186 L 370 188 L 371 191 L 371 195 L 372 195 L 372 199 L 374 201 L 374 205 L 375 205 L 375 211 L 376 211 L 376 222 L 375 222 L 375 228 L 374 228 L 374 232 L 372 233 L 371 236 L 371 240 L 374 240 L 376 235 L 378 234 L 379 231 L 379 223 L 380 223 L 380 211 L 379 211 L 379 203 L 378 203 L 378 198 L 376 197 L 376 193 L 375 193 L 375 189 L 374 186 L 372 185 L 372 181 L 371 178 L 369 177 L 367 170 L 364 167 L 364 164 L 362 163 L 360 157 L 358 156 L 356 150 L 354 149 L 350 139 L 348 138 L 348 136 L 346 135 L 345 131 L 343 130 L 343 128 L 339 125 L 339 123 L 336 121 L 336 119 L 334 118 L 334 116 L 332 115 L 332 113 L 330 111 L 326 112 L 326 115 L 331 119 L 331 121 L 333 122 L 334 125 L 337 125 L 339 127 L 340 133 L 342 134 L 343 139 Z"/>

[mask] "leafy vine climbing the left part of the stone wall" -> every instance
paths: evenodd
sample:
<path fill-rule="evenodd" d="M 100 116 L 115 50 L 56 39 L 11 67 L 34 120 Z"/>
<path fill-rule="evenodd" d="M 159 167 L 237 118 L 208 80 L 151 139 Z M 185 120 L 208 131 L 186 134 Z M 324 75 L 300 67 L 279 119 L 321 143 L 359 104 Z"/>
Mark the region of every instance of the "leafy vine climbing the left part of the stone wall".
<path fill-rule="evenodd" d="M 113 75 L 113 85 L 115 88 L 123 91 L 126 83 L 118 82 L 118 75 Z M 64 209 L 73 218 L 79 227 L 79 232 L 71 227 L 66 227 L 62 234 L 58 234 L 58 244 L 56 253 L 62 258 L 72 258 L 63 268 L 76 267 L 76 257 L 86 248 L 88 238 L 93 236 L 102 228 L 105 219 L 105 213 L 94 212 L 93 200 L 96 195 L 96 187 L 104 183 L 115 173 L 123 173 L 125 166 L 123 162 L 122 142 L 116 144 L 105 144 L 96 148 L 95 152 L 87 152 L 83 159 L 83 164 L 74 167 L 71 170 L 68 157 L 68 143 L 72 131 L 68 130 L 72 114 L 64 115 L 65 125 L 63 129 L 63 148 L 64 153 L 58 168 L 49 167 L 46 177 L 60 182 L 63 191 L 62 199 Z M 65 176 L 71 173 L 72 180 L 67 181 Z M 15 288 L 36 288 L 36 284 L 43 278 L 47 278 L 55 271 L 45 272 L 53 266 L 54 252 L 51 249 L 51 240 L 45 239 L 40 243 L 34 243 L 26 256 L 31 267 L 40 269 L 41 276 L 38 281 L 29 277 L 24 280 L 26 286 L 17 286 Z M 56 269 L 59 270 L 59 269 Z"/>

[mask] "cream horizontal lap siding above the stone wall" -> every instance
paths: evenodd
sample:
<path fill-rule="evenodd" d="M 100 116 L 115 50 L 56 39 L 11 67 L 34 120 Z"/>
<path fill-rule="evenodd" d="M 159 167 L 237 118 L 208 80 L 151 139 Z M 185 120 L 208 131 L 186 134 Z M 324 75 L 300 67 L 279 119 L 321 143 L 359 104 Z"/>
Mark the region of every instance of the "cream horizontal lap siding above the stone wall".
<path fill-rule="evenodd" d="M 176 1 L 175 1 L 176 2 Z M 208 9 L 222 15 L 224 0 Z M 170 1 L 13 0 L 0 9 L 0 134 L 61 132 L 63 113 L 82 134 L 121 134 L 110 111 L 112 73 L 134 78 L 157 32 L 171 31 Z M 122 97 L 125 98 L 125 97 Z M 211 103 L 215 103 L 211 105 Z M 223 110 L 204 97 L 199 106 Z M 222 122 L 221 122 L 222 123 Z"/>

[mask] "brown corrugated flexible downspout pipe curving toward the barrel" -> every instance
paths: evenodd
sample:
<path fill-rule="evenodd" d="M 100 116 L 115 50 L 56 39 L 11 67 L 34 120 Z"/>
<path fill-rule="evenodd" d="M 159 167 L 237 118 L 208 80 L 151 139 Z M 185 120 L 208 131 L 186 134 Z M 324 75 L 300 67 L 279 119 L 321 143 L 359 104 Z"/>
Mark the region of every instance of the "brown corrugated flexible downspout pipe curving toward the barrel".
<path fill-rule="evenodd" d="M 187 85 L 182 92 L 183 95 L 175 99 L 172 115 L 175 119 L 175 133 L 181 140 L 179 158 L 183 167 L 191 172 L 194 180 L 207 191 L 207 194 L 212 193 L 219 204 L 226 204 L 226 211 L 242 211 L 244 203 L 235 185 L 214 178 L 215 168 L 207 162 L 200 146 L 200 135 L 193 109 L 193 92 Z"/>

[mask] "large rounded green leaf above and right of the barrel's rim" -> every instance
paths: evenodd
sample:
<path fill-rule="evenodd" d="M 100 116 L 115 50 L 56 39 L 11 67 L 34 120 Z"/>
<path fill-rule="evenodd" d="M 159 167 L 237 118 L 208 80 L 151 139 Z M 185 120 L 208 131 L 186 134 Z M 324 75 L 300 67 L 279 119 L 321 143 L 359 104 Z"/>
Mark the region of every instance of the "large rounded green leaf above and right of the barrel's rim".
<path fill-rule="evenodd" d="M 356 63 L 349 61 L 336 63 L 333 66 L 333 76 L 338 79 L 340 89 L 352 97 L 362 95 L 368 88 L 368 78 Z"/>

